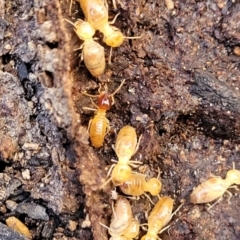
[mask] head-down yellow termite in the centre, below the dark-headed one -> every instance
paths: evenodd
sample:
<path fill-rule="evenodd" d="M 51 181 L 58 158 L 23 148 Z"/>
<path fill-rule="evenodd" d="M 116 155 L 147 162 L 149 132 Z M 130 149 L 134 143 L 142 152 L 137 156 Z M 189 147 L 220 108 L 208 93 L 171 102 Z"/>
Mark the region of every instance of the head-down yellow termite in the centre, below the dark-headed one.
<path fill-rule="evenodd" d="M 111 179 L 115 186 L 121 185 L 129 179 L 132 168 L 129 166 L 131 157 L 136 153 L 139 143 L 136 130 L 131 126 L 123 127 L 118 133 L 115 152 L 118 162 L 113 168 Z"/>

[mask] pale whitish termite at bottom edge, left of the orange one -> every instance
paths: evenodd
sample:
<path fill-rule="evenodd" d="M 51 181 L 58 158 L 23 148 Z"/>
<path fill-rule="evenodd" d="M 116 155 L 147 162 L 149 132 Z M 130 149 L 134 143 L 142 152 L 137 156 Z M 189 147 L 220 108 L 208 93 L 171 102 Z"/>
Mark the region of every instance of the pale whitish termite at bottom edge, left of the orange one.
<path fill-rule="evenodd" d="M 111 235 L 110 240 L 129 240 L 135 238 L 139 233 L 139 223 L 133 218 L 132 209 L 126 198 L 119 198 L 113 208 L 113 216 L 110 226 L 107 227 Z"/>

